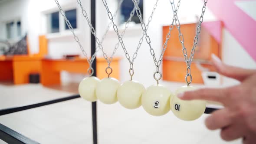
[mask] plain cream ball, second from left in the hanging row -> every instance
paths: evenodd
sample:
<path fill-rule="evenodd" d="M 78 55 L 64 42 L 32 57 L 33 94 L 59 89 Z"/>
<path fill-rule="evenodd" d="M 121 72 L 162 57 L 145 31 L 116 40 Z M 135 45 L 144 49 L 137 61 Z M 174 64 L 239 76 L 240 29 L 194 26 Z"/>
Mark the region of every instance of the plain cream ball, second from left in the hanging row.
<path fill-rule="evenodd" d="M 96 86 L 98 100 L 105 104 L 114 104 L 117 101 L 117 90 L 120 83 L 114 78 L 105 78 Z"/>

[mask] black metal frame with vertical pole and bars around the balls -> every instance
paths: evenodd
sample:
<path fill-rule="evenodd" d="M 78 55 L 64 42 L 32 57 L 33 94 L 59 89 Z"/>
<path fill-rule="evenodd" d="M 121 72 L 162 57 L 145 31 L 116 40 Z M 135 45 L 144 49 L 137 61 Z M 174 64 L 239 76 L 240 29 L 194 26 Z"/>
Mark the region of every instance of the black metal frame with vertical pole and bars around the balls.
<path fill-rule="evenodd" d="M 96 26 L 95 26 L 96 3 L 95 3 L 95 1 L 96 0 L 91 0 L 91 23 L 92 23 L 92 26 L 96 29 Z M 91 34 L 91 56 L 94 54 L 95 48 L 96 48 L 95 38 Z M 96 74 L 97 74 L 96 59 L 92 63 L 92 68 L 94 69 L 93 76 L 96 76 Z M 15 108 L 6 108 L 6 109 L 0 110 L 0 116 L 11 114 L 13 112 L 28 110 L 31 108 L 37 108 L 37 107 L 41 107 L 44 105 L 51 105 L 51 104 L 55 104 L 55 103 L 62 102 L 62 101 L 68 101 L 68 100 L 75 99 L 75 98 L 80 98 L 80 95 L 72 95 L 69 97 L 58 98 L 58 99 L 54 99 L 51 101 L 45 101 L 45 102 L 41 102 L 41 103 L 37 103 L 37 104 L 33 104 L 33 105 L 26 105 L 26 106 L 15 107 Z M 215 110 L 217 110 L 217 109 L 206 108 L 204 113 L 210 114 L 211 112 L 213 112 Z M 97 144 L 98 143 L 98 139 L 97 139 L 98 134 L 97 134 L 97 102 L 96 101 L 92 102 L 92 133 L 93 133 L 93 144 Z M 10 143 L 10 144 L 39 144 L 38 142 L 33 141 L 30 138 L 17 133 L 16 131 L 13 131 L 12 129 L 4 126 L 3 124 L 0 124 L 0 139 L 7 143 Z"/>

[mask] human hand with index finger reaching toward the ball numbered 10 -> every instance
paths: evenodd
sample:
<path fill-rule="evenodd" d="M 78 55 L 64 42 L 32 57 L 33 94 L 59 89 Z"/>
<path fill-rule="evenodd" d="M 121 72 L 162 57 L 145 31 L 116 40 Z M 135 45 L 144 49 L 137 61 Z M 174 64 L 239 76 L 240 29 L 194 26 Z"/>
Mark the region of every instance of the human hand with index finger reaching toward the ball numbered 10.
<path fill-rule="evenodd" d="M 212 55 L 214 67 L 222 75 L 237 79 L 240 85 L 228 88 L 203 88 L 178 95 L 183 100 L 218 101 L 223 109 L 214 111 L 205 124 L 208 129 L 221 129 L 221 137 L 232 141 L 243 137 L 243 144 L 256 144 L 256 70 L 223 64 Z"/>

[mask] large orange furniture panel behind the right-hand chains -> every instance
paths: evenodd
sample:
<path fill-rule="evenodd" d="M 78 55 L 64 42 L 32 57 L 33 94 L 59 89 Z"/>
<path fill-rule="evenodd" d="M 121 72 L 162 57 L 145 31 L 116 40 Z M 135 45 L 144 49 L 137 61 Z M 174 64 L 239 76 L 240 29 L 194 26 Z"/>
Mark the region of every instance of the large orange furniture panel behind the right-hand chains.
<path fill-rule="evenodd" d="M 222 23 L 217 23 L 222 25 Z M 196 33 L 196 23 L 181 25 L 181 32 L 184 35 L 184 44 L 187 49 L 187 55 L 190 56 L 191 49 L 193 47 L 194 36 Z M 221 26 L 222 27 L 222 26 Z M 221 29 L 220 29 L 221 30 Z M 169 31 L 169 26 L 163 26 L 163 43 L 165 42 L 165 36 Z M 221 32 L 220 32 L 221 33 Z M 182 46 L 179 41 L 178 31 L 176 27 L 171 31 L 171 38 L 167 44 L 167 49 L 164 53 L 163 60 L 163 79 L 174 82 L 185 82 L 186 75 L 186 63 L 182 53 Z M 214 71 L 213 66 L 210 64 L 211 54 L 221 56 L 221 46 L 213 36 L 207 31 L 207 29 L 201 28 L 200 37 L 196 47 L 194 60 L 191 64 L 191 75 L 193 83 L 203 83 L 201 71 L 196 66 L 196 62 L 200 63 L 204 68 Z M 188 79 L 189 80 L 189 79 Z"/>

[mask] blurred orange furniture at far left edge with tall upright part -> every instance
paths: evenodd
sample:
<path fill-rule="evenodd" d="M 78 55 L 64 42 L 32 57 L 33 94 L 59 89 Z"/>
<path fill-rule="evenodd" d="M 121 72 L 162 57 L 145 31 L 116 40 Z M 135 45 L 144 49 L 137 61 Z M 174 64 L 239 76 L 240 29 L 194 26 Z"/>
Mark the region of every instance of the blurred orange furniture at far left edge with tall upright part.
<path fill-rule="evenodd" d="M 0 81 L 13 81 L 15 85 L 29 83 L 30 73 L 41 72 L 41 59 L 47 54 L 47 39 L 39 36 L 39 53 L 0 56 Z"/>

